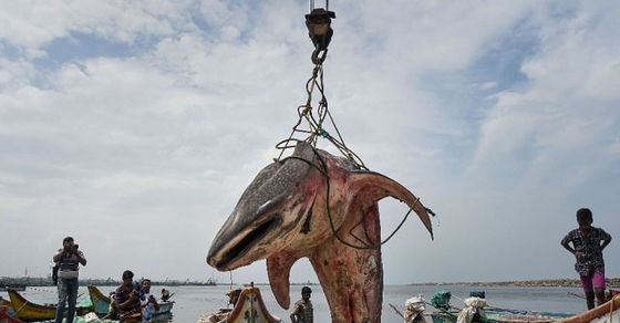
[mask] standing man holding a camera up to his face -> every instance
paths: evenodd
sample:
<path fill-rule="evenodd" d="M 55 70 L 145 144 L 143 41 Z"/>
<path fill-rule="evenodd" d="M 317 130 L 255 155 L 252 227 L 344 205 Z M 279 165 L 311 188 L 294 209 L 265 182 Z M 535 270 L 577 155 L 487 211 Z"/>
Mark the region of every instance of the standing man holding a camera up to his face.
<path fill-rule="evenodd" d="M 73 323 L 73 317 L 75 316 L 80 264 L 86 265 L 86 258 L 79 248 L 80 247 L 74 243 L 72 237 L 65 237 L 62 239 L 62 249 L 59 249 L 52 258 L 53 262 L 55 262 L 59 267 L 59 302 L 56 305 L 56 323 L 62 322 L 65 306 L 68 306 L 65 322 Z"/>

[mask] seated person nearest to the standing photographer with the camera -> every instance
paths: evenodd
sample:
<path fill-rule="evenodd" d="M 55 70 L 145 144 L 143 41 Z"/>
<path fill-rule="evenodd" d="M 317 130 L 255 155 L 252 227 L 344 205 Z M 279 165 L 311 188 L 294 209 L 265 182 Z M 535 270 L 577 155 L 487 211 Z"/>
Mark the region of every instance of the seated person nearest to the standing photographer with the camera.
<path fill-rule="evenodd" d="M 123 272 L 123 284 L 116 289 L 114 300 L 121 322 L 142 321 L 140 289 L 134 284 L 134 273 L 131 270 Z"/>

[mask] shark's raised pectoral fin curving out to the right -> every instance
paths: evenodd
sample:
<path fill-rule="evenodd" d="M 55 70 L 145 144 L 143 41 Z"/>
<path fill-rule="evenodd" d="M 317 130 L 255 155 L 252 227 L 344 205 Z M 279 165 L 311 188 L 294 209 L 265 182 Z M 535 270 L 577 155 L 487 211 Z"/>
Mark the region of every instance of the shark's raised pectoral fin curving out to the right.
<path fill-rule="evenodd" d="M 395 199 L 404 201 L 422 220 L 426 230 L 431 233 L 433 239 L 433 225 L 431 217 L 420 198 L 415 197 L 413 192 L 406 189 L 401 184 L 392 178 L 374 171 L 356 171 L 351 175 L 352 185 L 350 186 L 356 192 L 356 200 L 379 201 L 380 199 L 391 196 Z M 361 196 L 360 196 L 361 195 Z"/>

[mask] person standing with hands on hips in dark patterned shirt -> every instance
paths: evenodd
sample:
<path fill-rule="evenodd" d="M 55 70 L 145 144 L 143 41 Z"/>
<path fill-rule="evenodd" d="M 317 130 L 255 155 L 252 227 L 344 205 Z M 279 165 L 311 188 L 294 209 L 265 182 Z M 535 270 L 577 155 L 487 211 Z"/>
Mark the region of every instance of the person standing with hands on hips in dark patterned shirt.
<path fill-rule="evenodd" d="M 611 242 L 611 236 L 603 229 L 592 227 L 592 211 L 588 208 L 577 210 L 579 228 L 568 232 L 561 246 L 575 256 L 575 270 L 581 279 L 588 309 L 604 303 L 604 261 L 602 250 Z M 572 247 L 570 246 L 572 244 Z"/>

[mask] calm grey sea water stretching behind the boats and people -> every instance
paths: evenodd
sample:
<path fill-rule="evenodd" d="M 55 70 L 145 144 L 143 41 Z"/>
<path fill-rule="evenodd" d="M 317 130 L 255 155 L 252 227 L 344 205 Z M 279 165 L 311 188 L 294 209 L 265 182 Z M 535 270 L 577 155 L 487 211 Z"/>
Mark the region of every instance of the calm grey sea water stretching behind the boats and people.
<path fill-rule="evenodd" d="M 193 323 L 203 314 L 217 312 L 218 309 L 227 308 L 228 298 L 226 293 L 232 288 L 240 285 L 218 284 L 213 286 L 162 286 L 154 285 L 152 292 L 157 294 L 162 288 L 174 293 L 172 300 L 175 301 L 173 319 L 169 322 Z M 287 310 L 281 309 L 276 302 L 269 285 L 258 285 L 262 299 L 270 313 L 283 322 L 290 322 Z M 329 306 L 320 285 L 312 285 L 312 304 L 314 306 L 314 322 L 329 323 Z M 107 294 L 114 286 L 100 286 L 102 292 Z M 586 310 L 586 301 L 580 298 L 582 291 L 579 288 L 516 288 L 516 286 L 472 286 L 468 284 L 441 284 L 441 285 L 385 285 L 383 292 L 382 321 L 403 322 L 403 320 L 390 306 L 393 304 L 401 312 L 404 302 L 412 296 L 423 295 L 430 302 L 431 296 L 436 291 L 450 291 L 452 293 L 451 304 L 462 308 L 463 300 L 472 291 L 484 291 L 487 303 L 494 308 L 545 312 L 545 313 L 580 313 Z M 20 292 L 33 303 L 55 303 L 55 286 L 29 286 Z M 301 295 L 301 285 L 291 285 L 291 303 Z M 0 296 L 8 299 L 6 292 L 0 292 Z M 79 290 L 79 300 L 87 298 L 89 292 L 85 286 Z M 426 306 L 426 312 L 434 311 Z"/>

